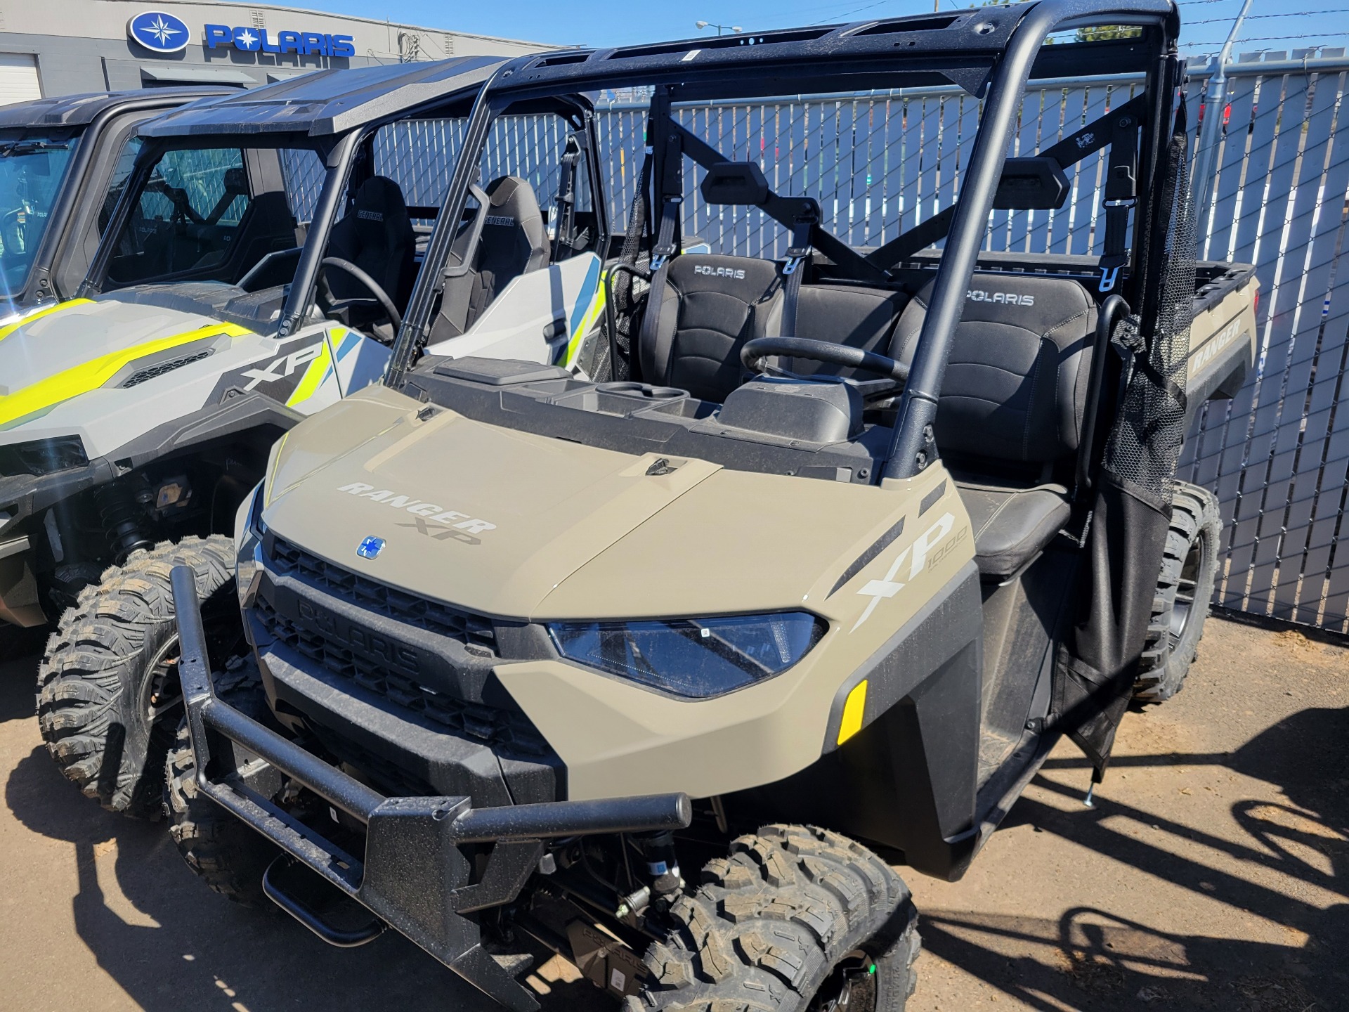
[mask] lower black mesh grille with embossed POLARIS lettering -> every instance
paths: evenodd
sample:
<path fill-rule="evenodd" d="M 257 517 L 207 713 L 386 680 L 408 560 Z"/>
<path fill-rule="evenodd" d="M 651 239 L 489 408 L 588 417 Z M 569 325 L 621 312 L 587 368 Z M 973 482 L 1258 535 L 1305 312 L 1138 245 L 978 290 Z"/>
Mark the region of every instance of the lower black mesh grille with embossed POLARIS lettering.
<path fill-rule="evenodd" d="M 291 622 L 278 614 L 262 595 L 256 599 L 254 615 L 268 636 L 321 664 L 324 669 L 351 679 L 362 688 L 444 725 L 465 738 L 514 754 L 544 756 L 549 750 L 542 735 L 523 715 L 429 690 L 406 675 L 360 657 L 320 631 Z"/>

